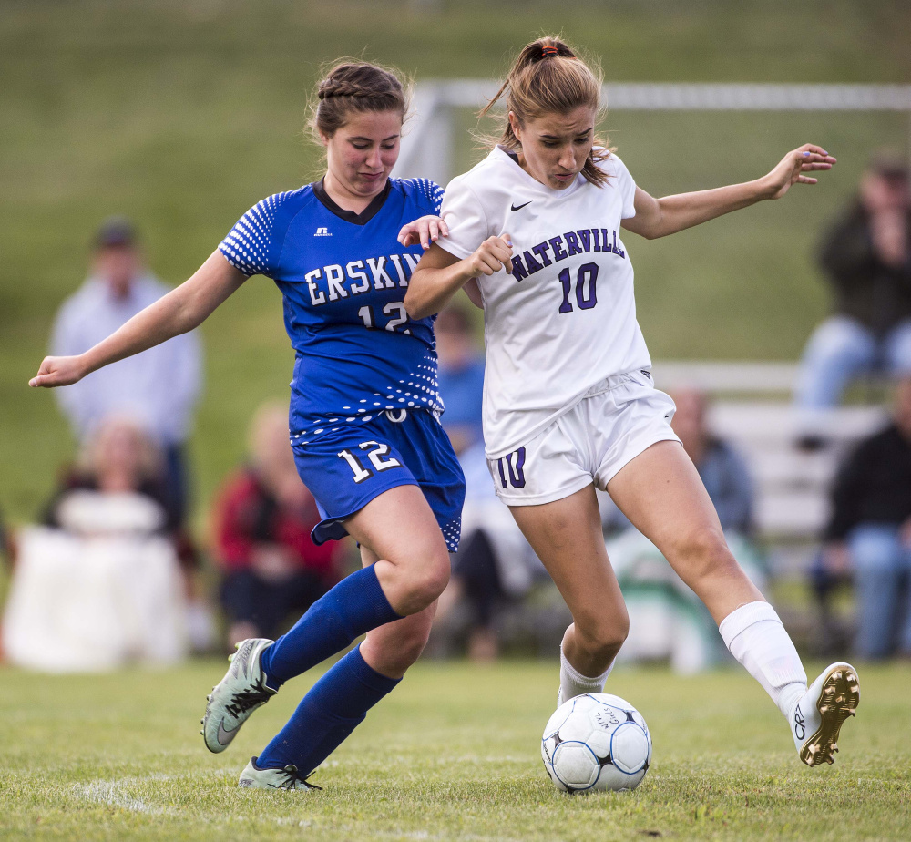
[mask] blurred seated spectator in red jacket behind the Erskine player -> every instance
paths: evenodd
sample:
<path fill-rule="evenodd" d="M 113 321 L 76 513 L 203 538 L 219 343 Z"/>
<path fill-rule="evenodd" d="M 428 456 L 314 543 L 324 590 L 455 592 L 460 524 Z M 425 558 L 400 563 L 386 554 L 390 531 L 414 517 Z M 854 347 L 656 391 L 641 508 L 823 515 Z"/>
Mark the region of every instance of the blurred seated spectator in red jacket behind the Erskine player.
<path fill-rule="evenodd" d="M 230 477 L 214 512 L 215 554 L 228 641 L 274 638 L 292 612 L 306 611 L 338 580 L 340 545 L 317 547 L 316 501 L 294 466 L 288 409 L 261 406 L 253 417 L 251 464 Z"/>

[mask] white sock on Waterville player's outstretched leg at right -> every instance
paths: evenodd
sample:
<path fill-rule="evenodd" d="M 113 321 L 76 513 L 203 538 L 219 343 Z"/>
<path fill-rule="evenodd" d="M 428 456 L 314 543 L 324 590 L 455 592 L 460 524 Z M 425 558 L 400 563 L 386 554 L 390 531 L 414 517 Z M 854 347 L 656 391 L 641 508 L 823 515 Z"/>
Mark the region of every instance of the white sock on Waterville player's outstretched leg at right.
<path fill-rule="evenodd" d="M 718 631 L 731 654 L 789 717 L 806 692 L 806 673 L 773 607 L 768 602 L 747 602 L 728 614 Z"/>

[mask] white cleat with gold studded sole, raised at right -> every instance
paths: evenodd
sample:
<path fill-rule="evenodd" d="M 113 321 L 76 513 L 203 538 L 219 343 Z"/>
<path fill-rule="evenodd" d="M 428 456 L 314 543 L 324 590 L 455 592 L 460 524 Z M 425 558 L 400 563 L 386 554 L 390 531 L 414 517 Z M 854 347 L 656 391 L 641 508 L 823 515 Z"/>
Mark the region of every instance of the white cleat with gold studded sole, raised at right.
<path fill-rule="evenodd" d="M 860 683 L 850 663 L 830 664 L 809 686 L 791 713 L 794 745 L 806 765 L 835 762 L 838 733 L 858 703 Z"/>

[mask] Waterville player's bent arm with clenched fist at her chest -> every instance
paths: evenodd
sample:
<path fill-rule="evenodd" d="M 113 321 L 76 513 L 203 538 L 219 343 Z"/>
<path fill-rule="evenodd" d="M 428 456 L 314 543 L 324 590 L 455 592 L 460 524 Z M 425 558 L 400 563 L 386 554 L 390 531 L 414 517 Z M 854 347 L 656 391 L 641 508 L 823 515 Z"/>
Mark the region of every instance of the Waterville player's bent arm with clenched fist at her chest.
<path fill-rule="evenodd" d="M 504 268 L 512 272 L 511 256 L 512 241 L 508 234 L 488 237 L 464 260 L 459 260 L 434 243 L 425 252 L 408 282 L 404 309 L 413 319 L 424 319 L 439 313 L 455 293 L 477 275 L 492 275 Z M 468 297 L 473 303 L 478 303 L 471 293 Z"/>

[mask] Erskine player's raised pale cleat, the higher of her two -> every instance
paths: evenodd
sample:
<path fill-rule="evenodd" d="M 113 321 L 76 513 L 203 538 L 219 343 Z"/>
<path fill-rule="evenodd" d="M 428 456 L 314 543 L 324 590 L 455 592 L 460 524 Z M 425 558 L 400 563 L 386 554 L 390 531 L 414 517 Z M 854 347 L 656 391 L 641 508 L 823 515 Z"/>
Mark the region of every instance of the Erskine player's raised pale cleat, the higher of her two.
<path fill-rule="evenodd" d="M 260 666 L 261 652 L 273 642 L 252 637 L 235 644 L 237 652 L 228 657 L 228 673 L 207 697 L 200 734 L 210 752 L 223 752 L 250 714 L 277 692 L 266 686 L 266 674 Z"/>

